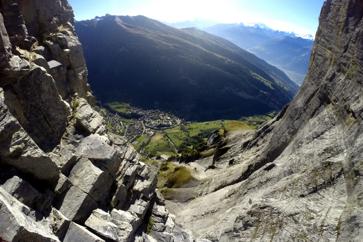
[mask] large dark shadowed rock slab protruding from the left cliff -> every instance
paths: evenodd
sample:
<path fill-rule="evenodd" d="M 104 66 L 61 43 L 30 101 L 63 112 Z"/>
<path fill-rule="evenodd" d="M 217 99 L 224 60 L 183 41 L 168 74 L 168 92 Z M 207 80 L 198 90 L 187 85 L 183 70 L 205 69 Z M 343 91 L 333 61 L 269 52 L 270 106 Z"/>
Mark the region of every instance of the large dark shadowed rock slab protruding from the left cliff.
<path fill-rule="evenodd" d="M 43 151 L 50 151 L 65 131 L 69 105 L 44 68 L 34 65 L 26 70 L 19 80 L 4 88 L 5 104 L 34 142 Z"/>

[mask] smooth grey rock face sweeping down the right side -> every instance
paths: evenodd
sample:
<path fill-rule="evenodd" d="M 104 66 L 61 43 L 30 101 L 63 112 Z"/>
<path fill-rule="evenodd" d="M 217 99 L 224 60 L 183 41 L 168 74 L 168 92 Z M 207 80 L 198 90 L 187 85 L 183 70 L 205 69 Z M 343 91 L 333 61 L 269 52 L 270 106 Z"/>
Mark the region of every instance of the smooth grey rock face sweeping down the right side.
<path fill-rule="evenodd" d="M 176 222 L 211 241 L 362 241 L 363 2 L 326 1 L 296 97 L 229 135 Z M 233 164 L 229 161 L 233 159 Z"/>

